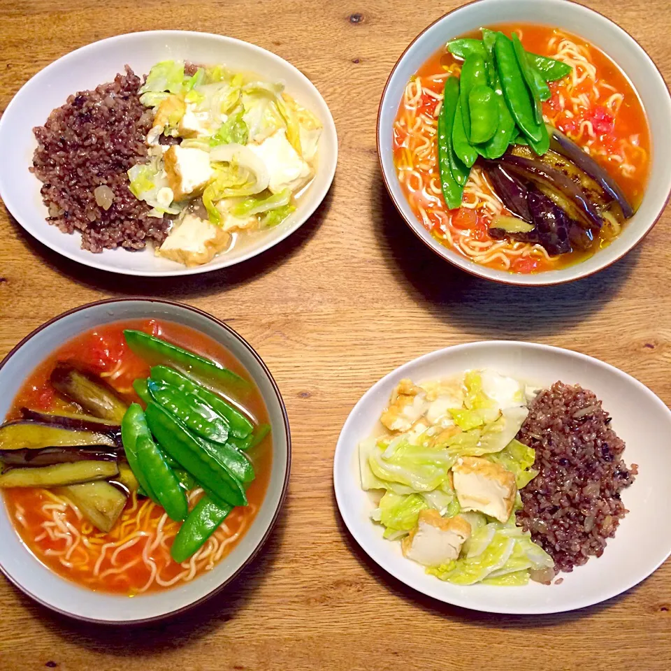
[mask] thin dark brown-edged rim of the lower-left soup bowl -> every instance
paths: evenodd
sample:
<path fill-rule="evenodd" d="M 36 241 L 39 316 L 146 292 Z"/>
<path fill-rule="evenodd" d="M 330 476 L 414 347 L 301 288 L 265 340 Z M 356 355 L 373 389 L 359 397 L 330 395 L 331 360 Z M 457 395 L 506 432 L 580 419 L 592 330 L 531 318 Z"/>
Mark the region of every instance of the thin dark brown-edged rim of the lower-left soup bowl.
<path fill-rule="evenodd" d="M 261 356 L 259 356 L 258 352 L 252 345 L 250 345 L 245 338 L 243 338 L 242 335 L 240 335 L 237 331 L 231 328 L 228 324 L 225 324 L 222 322 L 221 319 L 217 319 L 217 317 L 214 317 L 213 315 L 210 315 L 208 312 L 205 312 L 205 310 L 201 310 L 200 308 L 194 308 L 192 305 L 185 305 L 185 303 L 178 303 L 177 301 L 170 301 L 165 298 L 148 298 L 144 296 L 127 296 L 124 298 L 105 298 L 101 301 L 92 301 L 92 303 L 85 303 L 85 305 L 80 305 L 78 308 L 72 308 L 71 310 L 67 310 L 66 312 L 62 312 L 60 315 L 56 315 L 56 317 L 52 317 L 52 319 L 49 319 L 48 322 L 44 322 L 44 324 L 41 324 L 41 326 L 38 326 L 36 329 L 28 333 L 28 335 L 25 335 L 24 338 L 20 340 L 20 342 L 17 343 L 6 356 L 3 357 L 3 359 L 0 361 L 0 372 L 5 366 L 5 364 L 9 361 L 9 359 L 12 356 L 15 356 L 19 352 L 19 350 L 25 345 L 31 338 L 33 338 L 34 335 L 37 335 L 44 329 L 47 329 L 49 326 L 52 324 L 55 324 L 56 322 L 59 322 L 61 319 L 64 319 L 66 317 L 70 317 L 71 315 L 75 315 L 77 312 L 81 312 L 82 310 L 86 310 L 87 308 L 94 308 L 99 305 L 110 305 L 113 303 L 127 303 L 129 301 L 142 301 L 143 303 L 160 303 L 161 305 L 170 305 L 173 308 L 182 308 L 185 310 L 189 310 L 190 312 L 195 312 L 197 315 L 200 315 L 201 317 L 206 317 L 207 319 L 210 320 L 210 322 L 214 322 L 217 326 L 221 327 L 224 329 L 224 331 L 227 331 L 230 335 L 233 336 L 233 338 L 236 338 L 240 344 L 247 349 L 247 351 L 252 355 L 254 359 L 256 359 L 257 363 L 259 366 L 261 366 L 261 370 L 263 371 L 264 375 L 268 378 L 268 382 L 270 382 L 270 386 L 273 388 L 273 391 L 275 393 L 275 396 L 277 398 L 277 402 L 280 404 L 280 410 L 282 411 L 282 420 L 283 420 L 283 428 L 284 428 L 284 435 L 287 440 L 287 460 L 284 463 L 284 481 L 282 482 L 282 491 L 280 492 L 280 498 L 277 501 L 277 507 L 275 507 L 275 512 L 273 513 L 273 518 L 270 520 L 270 524 L 268 524 L 268 528 L 264 532 L 264 535 L 261 537 L 261 540 L 258 542 L 256 547 L 250 552 L 249 556 L 245 558 L 243 563 L 240 564 L 240 566 L 235 570 L 231 575 L 226 577 L 224 581 L 217 585 L 214 589 L 212 589 L 210 592 L 202 596 L 201 598 L 192 601 L 192 603 L 188 603 L 186 605 L 180 606 L 178 608 L 175 608 L 173 610 L 170 610 L 168 612 L 161 613 L 159 615 L 154 615 L 150 617 L 144 617 L 144 618 L 138 618 L 138 619 L 132 619 L 132 620 L 101 620 L 101 619 L 96 619 L 96 618 L 91 618 L 91 617 L 86 617 L 86 616 L 80 616 L 80 615 L 75 615 L 72 614 L 71 612 L 68 612 L 67 610 L 64 610 L 60 607 L 57 607 L 55 605 L 51 605 L 49 603 L 46 603 L 44 600 L 42 600 L 40 597 L 36 596 L 34 593 L 26 589 L 20 582 L 18 582 L 13 576 L 9 575 L 8 572 L 5 570 L 4 566 L 2 565 L 0 561 L 0 572 L 8 579 L 8 581 L 13 584 L 17 589 L 20 589 L 26 596 L 29 596 L 31 599 L 36 601 L 38 604 L 41 606 L 48 608 L 54 612 L 57 612 L 59 614 L 65 615 L 71 619 L 75 619 L 78 621 L 83 621 L 83 622 L 90 622 L 94 624 L 102 624 L 102 625 L 110 625 L 110 626 L 126 626 L 126 625 L 136 625 L 136 624 L 145 624 L 145 623 L 150 623 L 150 622 L 157 622 L 164 620 L 168 617 L 173 617 L 177 616 L 178 614 L 185 613 L 192 608 L 195 608 L 196 606 L 201 605 L 208 599 L 212 598 L 219 592 L 221 592 L 226 586 L 231 584 L 233 580 L 235 580 L 244 570 L 247 568 L 250 563 L 256 558 L 256 556 L 259 554 L 261 549 L 264 547 L 266 544 L 266 541 L 270 537 L 270 533 L 273 531 L 275 528 L 275 524 L 277 524 L 277 519 L 280 517 L 280 511 L 282 510 L 282 507 L 284 505 L 284 502 L 287 498 L 287 493 L 289 491 L 289 477 L 291 475 L 291 430 L 289 428 L 289 414 L 287 413 L 287 406 L 284 404 L 284 399 L 282 398 L 282 394 L 280 393 L 279 387 L 277 387 L 277 382 L 275 382 L 275 378 L 273 375 L 270 373 L 270 370 L 268 370 L 268 366 L 266 366 L 266 363 L 264 363 L 264 360 L 261 359 Z M 168 321 L 170 321 L 168 319 Z M 94 327 L 92 327 L 94 328 Z M 2 421 L 4 418 L 0 418 Z M 1 422 L 0 422 L 1 423 Z M 273 464 L 274 466 L 274 464 Z M 271 467 L 272 468 L 272 467 Z M 4 506 L 4 503 L 2 503 Z M 29 549 L 26 549 L 27 552 L 30 553 Z M 37 561 L 40 561 L 37 559 Z M 72 581 L 69 581 L 67 578 L 62 578 L 68 583 L 75 584 Z"/>

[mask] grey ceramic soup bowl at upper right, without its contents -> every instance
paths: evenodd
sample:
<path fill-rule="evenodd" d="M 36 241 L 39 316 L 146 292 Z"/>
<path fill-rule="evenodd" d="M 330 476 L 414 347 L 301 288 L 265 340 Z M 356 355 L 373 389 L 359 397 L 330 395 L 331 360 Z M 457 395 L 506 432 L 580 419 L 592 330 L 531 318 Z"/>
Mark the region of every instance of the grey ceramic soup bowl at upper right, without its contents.
<path fill-rule="evenodd" d="M 408 82 L 433 55 L 456 37 L 480 27 L 500 24 L 531 24 L 551 27 L 575 35 L 603 51 L 619 66 L 622 81 L 637 92 L 650 134 L 648 177 L 640 206 L 608 245 L 577 263 L 542 272 L 520 274 L 476 264 L 453 247 L 440 243 L 422 224 L 407 199 L 394 163 L 394 123 Z M 419 34 L 401 55 L 389 75 L 377 117 L 377 149 L 382 177 L 394 205 L 412 232 L 440 257 L 468 273 L 505 284 L 561 284 L 586 277 L 614 264 L 649 233 L 661 217 L 671 193 L 671 156 L 660 147 L 671 142 L 671 98 L 665 82 L 650 57 L 623 29 L 605 16 L 565 0 L 479 0 L 446 14 Z M 613 159 L 615 160 L 615 159 Z M 419 188 L 419 187 L 415 187 Z M 435 196 L 442 203 L 442 196 Z M 576 259 L 577 260 L 577 259 Z M 559 264 L 556 264 L 557 266 Z"/>

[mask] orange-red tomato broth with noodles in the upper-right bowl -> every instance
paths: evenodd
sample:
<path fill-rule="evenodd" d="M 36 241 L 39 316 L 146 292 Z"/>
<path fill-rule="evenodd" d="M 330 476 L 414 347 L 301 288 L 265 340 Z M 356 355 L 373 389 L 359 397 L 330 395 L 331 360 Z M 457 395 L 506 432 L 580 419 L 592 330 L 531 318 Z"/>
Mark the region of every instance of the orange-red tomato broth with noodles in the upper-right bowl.
<path fill-rule="evenodd" d="M 586 79 L 575 87 L 574 96 L 585 97 L 569 110 L 567 89 L 571 83 L 570 77 L 558 82 L 549 82 L 552 96 L 543 103 L 543 113 L 546 120 L 586 149 L 591 157 L 612 175 L 636 209 L 642 201 L 649 173 L 650 138 L 642 103 L 626 75 L 604 52 L 564 31 L 531 24 L 504 24 L 492 29 L 503 31 L 507 35 L 516 31 L 524 47 L 540 55 L 556 56 L 562 38 L 567 38 L 579 49 L 586 50 L 589 63 L 597 68 L 596 85 Z M 482 34 L 477 30 L 466 36 L 481 38 Z M 582 73 L 582 66 L 578 69 Z M 435 52 L 414 75 L 413 79 L 417 79 L 421 85 L 421 94 L 419 87 L 414 89 L 414 93 L 419 96 L 417 100 L 413 96 L 413 104 L 409 106 L 407 94 L 412 82 L 408 85 L 394 123 L 394 163 L 403 192 L 419 221 L 436 240 L 462 256 L 478 264 L 512 273 L 540 273 L 553 268 L 563 268 L 583 261 L 600 247 L 607 246 L 612 238 L 607 237 L 605 231 L 596 237 L 591 250 L 575 251 L 558 257 L 549 257 L 547 252 L 538 249 L 538 245 L 516 243 L 512 240 L 497 244 L 488 233 L 493 218 L 491 211 L 479 207 L 480 203 L 477 201 L 472 202 L 472 194 L 468 194 L 468 185 L 461 208 L 457 210 L 447 208 L 440 192 L 437 134 L 432 131 L 423 134 L 422 131 L 426 130 L 427 126 L 436 128 L 435 113 L 442 98 L 445 77 L 458 75 L 460 71 L 461 61 L 452 56 L 447 48 Z M 612 100 L 614 94 L 623 96 L 623 101 L 616 110 L 602 104 Z M 431 121 L 431 124 L 418 124 L 418 120 L 422 117 L 426 122 Z M 595 137 L 590 137 L 588 126 L 584 122 L 591 123 Z M 623 155 L 625 151 L 626 155 Z M 626 171 L 621 169 L 623 164 L 627 168 Z M 479 169 L 472 171 L 472 178 L 475 173 L 481 171 Z M 484 178 L 481 178 L 476 186 L 475 191 L 479 194 L 486 194 L 496 199 L 500 214 L 512 214 L 501 205 L 498 197 L 493 194 L 489 182 Z M 468 208 L 465 206 L 467 203 L 475 204 L 475 207 Z M 466 245 L 484 247 L 486 243 L 492 247 L 496 245 L 501 253 L 491 260 L 482 261 L 476 257 L 479 251 L 477 248 L 475 250 L 472 247 L 463 248 Z"/>

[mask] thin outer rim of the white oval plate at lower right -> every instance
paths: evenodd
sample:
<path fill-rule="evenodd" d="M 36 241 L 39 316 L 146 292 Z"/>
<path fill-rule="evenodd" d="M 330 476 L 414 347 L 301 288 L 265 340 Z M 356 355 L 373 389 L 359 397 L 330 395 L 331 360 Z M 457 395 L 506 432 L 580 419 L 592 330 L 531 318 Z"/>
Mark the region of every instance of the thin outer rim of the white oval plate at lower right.
<path fill-rule="evenodd" d="M 389 575 L 392 578 L 398 580 L 398 582 L 403 583 L 403 585 L 409 587 L 410 589 L 412 589 L 412 591 L 417 592 L 419 594 L 423 594 L 424 596 L 428 596 L 428 598 L 431 598 L 432 600 L 435 600 L 440 603 L 445 603 L 447 605 L 451 605 L 454 607 L 466 608 L 472 612 L 486 612 L 486 613 L 506 614 L 514 616 L 529 616 L 529 615 L 544 615 L 544 614 L 554 614 L 554 613 L 582 610 L 584 608 L 606 603 L 608 600 L 626 593 L 630 589 L 633 589 L 635 586 L 649 579 L 649 577 L 651 577 L 651 575 L 653 575 L 658 570 L 658 568 L 660 568 L 661 565 L 663 565 L 663 563 L 665 563 L 665 561 L 668 561 L 668 559 L 671 557 L 671 542 L 669 544 L 668 551 L 665 551 L 664 556 L 659 561 L 656 562 L 654 568 L 652 568 L 652 570 L 647 572 L 646 575 L 638 579 L 635 578 L 628 579 L 626 583 L 623 584 L 623 587 L 621 589 L 620 588 L 609 589 L 609 591 L 605 593 L 605 596 L 603 596 L 603 598 L 600 598 L 596 601 L 588 599 L 578 603 L 562 604 L 558 607 L 553 605 L 549 607 L 529 607 L 526 609 L 517 609 L 517 610 L 507 609 L 506 607 L 482 607 L 480 605 L 472 605 L 472 603 L 468 603 L 468 598 L 466 599 L 454 598 L 448 600 L 444 596 L 437 595 L 433 589 L 429 589 L 421 584 L 415 584 L 414 579 L 412 579 L 412 577 L 410 577 L 410 579 L 407 579 L 405 577 L 405 573 L 401 573 L 398 570 L 395 570 L 393 566 L 387 564 L 385 559 L 386 555 L 382 556 L 381 558 L 382 561 L 378 561 L 377 556 L 375 556 L 376 553 L 373 552 L 373 554 L 371 554 L 368 551 L 368 544 L 369 544 L 368 538 L 370 536 L 368 534 L 366 535 L 359 534 L 354 524 L 350 526 L 349 523 L 352 520 L 352 517 L 350 517 L 349 512 L 347 511 L 347 505 L 345 503 L 342 503 L 341 505 L 341 501 L 345 501 L 345 499 L 347 498 L 347 489 L 345 488 L 345 485 L 342 484 L 342 478 L 338 474 L 338 467 L 340 463 L 348 456 L 347 452 L 348 449 L 350 455 L 354 454 L 358 450 L 359 442 L 366 438 L 366 435 L 361 436 L 354 435 L 352 436 L 351 440 L 346 440 L 346 438 L 350 438 L 349 434 L 352 434 L 354 432 L 354 428 L 352 428 L 352 426 L 355 424 L 356 417 L 358 416 L 358 414 L 361 413 L 360 406 L 363 403 L 364 399 L 368 400 L 369 398 L 375 398 L 376 392 L 378 392 L 382 387 L 384 387 L 387 381 L 391 380 L 395 375 L 397 375 L 399 370 L 401 370 L 402 368 L 413 366 L 414 364 L 417 364 L 421 361 L 425 361 L 426 359 L 430 359 L 431 357 L 449 356 L 449 354 L 452 354 L 454 352 L 487 349 L 489 347 L 501 347 L 501 348 L 524 347 L 536 350 L 537 352 L 547 352 L 547 353 L 561 354 L 563 356 L 570 356 L 572 359 L 575 359 L 577 361 L 589 363 L 591 366 L 596 366 L 597 368 L 606 370 L 609 373 L 614 373 L 615 375 L 621 377 L 621 379 L 626 380 L 627 384 L 631 384 L 634 387 L 640 389 L 640 391 L 644 392 L 644 394 L 647 394 L 647 396 L 649 396 L 650 398 L 651 403 L 655 403 L 656 405 L 658 405 L 660 410 L 665 411 L 665 414 L 667 414 L 667 416 L 671 415 L 671 409 L 668 407 L 668 405 L 666 405 L 664 401 L 662 401 L 662 399 L 654 391 L 652 391 L 652 389 L 647 387 L 646 384 L 638 380 L 633 375 L 630 375 L 630 373 L 626 373 L 625 370 L 622 370 L 621 368 L 614 366 L 612 363 L 607 363 L 607 361 L 598 359 L 596 356 L 591 356 L 590 354 L 584 354 L 583 352 L 578 352 L 575 349 L 568 349 L 568 347 L 557 347 L 556 345 L 547 345 L 543 342 L 534 342 L 532 340 L 503 340 L 497 338 L 494 340 L 470 340 L 468 342 L 458 342 L 455 345 L 447 345 L 447 347 L 440 347 L 439 349 L 431 349 L 428 352 L 424 352 L 422 354 L 419 354 L 418 356 L 415 356 L 413 359 L 403 361 L 403 363 L 392 368 L 387 373 L 382 375 L 382 377 L 375 380 L 375 382 L 373 382 L 373 384 L 371 384 L 370 387 L 368 387 L 363 392 L 363 394 L 359 396 L 359 399 L 356 401 L 356 403 L 354 403 L 352 409 L 349 411 L 349 414 L 347 414 L 347 417 L 342 424 L 342 428 L 340 429 L 340 433 L 338 435 L 338 441 L 335 444 L 335 453 L 333 455 L 333 471 L 332 471 L 333 493 L 335 496 L 335 503 L 338 507 L 338 514 L 340 515 L 340 519 L 342 520 L 343 524 L 345 524 L 345 528 L 347 529 L 347 533 L 349 534 L 349 536 L 352 537 L 352 540 L 356 542 L 356 545 L 359 547 L 359 549 L 361 549 L 361 551 L 363 551 L 364 554 L 366 554 L 366 556 L 370 559 L 370 561 L 375 563 L 377 570 L 382 570 L 386 575 Z M 375 401 L 373 401 L 373 403 L 374 402 Z M 354 443 L 354 447 L 350 449 L 349 445 L 352 444 L 352 442 Z M 354 486 L 359 487 L 360 489 L 360 483 L 359 484 L 355 483 Z M 373 529 L 372 524 L 370 525 L 370 529 Z M 352 550 L 352 548 L 350 549 Z M 596 559 L 596 557 L 594 558 Z M 563 574 L 559 575 L 561 577 L 561 575 Z M 440 584 L 440 581 L 437 582 L 438 584 Z"/>

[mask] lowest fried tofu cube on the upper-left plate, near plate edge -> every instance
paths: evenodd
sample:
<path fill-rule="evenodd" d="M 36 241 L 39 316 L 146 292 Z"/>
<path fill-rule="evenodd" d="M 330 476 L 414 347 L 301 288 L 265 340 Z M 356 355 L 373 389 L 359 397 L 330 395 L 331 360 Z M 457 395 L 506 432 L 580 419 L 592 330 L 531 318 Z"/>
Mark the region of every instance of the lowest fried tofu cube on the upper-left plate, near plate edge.
<path fill-rule="evenodd" d="M 189 214 L 170 232 L 156 254 L 185 266 L 201 266 L 225 250 L 230 238 L 219 226 Z"/>

